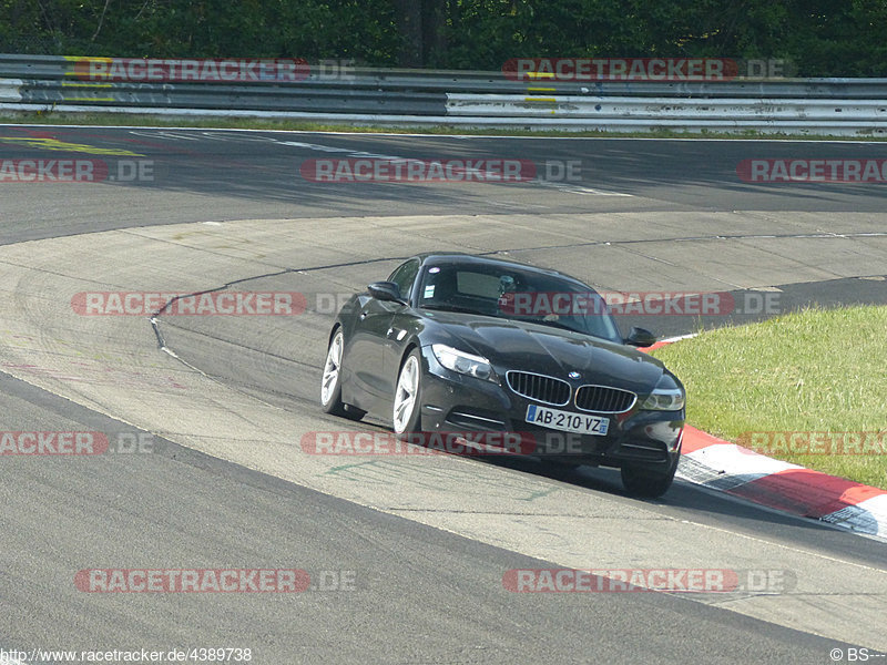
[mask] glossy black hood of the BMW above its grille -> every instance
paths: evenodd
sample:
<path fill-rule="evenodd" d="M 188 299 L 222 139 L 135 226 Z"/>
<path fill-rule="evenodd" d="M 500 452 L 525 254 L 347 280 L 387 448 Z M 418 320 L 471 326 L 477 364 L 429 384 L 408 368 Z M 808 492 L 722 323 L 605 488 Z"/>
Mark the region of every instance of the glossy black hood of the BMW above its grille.
<path fill-rule="evenodd" d="M 570 371 L 578 371 L 582 383 L 644 393 L 665 371 L 661 361 L 632 347 L 552 326 L 442 311 L 426 321 L 438 332 L 429 344 L 483 356 L 498 372 L 513 369 L 568 380 Z"/>

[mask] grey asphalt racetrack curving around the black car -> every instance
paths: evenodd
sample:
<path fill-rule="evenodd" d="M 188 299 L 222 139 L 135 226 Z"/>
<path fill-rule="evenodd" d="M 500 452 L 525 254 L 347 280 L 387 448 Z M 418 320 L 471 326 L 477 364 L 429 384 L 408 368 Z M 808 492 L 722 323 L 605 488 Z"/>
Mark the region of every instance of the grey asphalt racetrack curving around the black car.
<path fill-rule="evenodd" d="M 390 157 L 523 160 L 536 177 L 305 177 L 312 160 Z M 0 431 L 110 442 L 0 456 L 0 648 L 233 647 L 268 664 L 879 661 L 883 540 L 684 482 L 640 501 L 612 470 L 304 444 L 386 431 L 324 415 L 320 368 L 336 303 L 417 252 L 502 253 L 602 290 L 731 295 L 716 313 L 620 321 L 663 336 L 887 303 L 885 185 L 748 183 L 737 166 L 750 158 L 883 160 L 887 145 L 0 127 L 2 161 L 93 161 L 103 174 L 0 182 Z M 559 177 L 568 163 L 580 177 Z M 81 306 L 83 294 L 213 290 L 297 294 L 304 311 L 152 325 L 150 307 Z M 503 582 L 561 567 L 736 571 L 746 584 Z M 102 593 L 78 576 L 122 569 L 297 569 L 312 584 Z M 787 582 L 747 583 L 761 571 Z"/>

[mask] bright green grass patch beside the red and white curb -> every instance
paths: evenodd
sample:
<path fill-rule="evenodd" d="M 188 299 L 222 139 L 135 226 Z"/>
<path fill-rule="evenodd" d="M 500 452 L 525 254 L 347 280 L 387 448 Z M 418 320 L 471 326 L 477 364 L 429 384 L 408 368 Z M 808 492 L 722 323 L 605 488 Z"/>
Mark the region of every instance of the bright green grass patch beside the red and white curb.
<path fill-rule="evenodd" d="M 653 355 L 684 381 L 694 427 L 887 489 L 887 307 L 805 309 L 708 330 Z M 816 454 L 794 454 L 772 436 L 761 449 L 750 432 L 873 432 L 868 443 L 878 452 L 848 453 L 846 443 L 825 439 Z"/>

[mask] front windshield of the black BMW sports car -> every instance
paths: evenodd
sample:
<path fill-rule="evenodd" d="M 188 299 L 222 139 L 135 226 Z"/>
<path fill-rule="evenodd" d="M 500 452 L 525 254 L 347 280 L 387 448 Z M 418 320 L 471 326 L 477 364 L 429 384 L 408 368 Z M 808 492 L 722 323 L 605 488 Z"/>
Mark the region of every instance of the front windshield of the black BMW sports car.
<path fill-rule="evenodd" d="M 619 328 L 594 289 L 517 266 L 427 266 L 419 284 L 418 306 L 529 321 L 621 341 Z"/>

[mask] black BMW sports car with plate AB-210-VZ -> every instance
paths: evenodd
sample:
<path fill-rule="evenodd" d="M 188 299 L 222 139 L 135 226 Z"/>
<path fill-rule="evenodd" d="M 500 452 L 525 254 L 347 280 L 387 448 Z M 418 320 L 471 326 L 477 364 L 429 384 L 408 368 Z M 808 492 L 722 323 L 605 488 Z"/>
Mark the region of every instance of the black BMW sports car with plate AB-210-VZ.
<path fill-rule="evenodd" d="M 520 452 L 621 469 L 659 497 L 681 454 L 685 392 L 561 273 L 457 253 L 415 256 L 354 295 L 329 334 L 320 402 L 410 432 L 520 432 Z"/>

